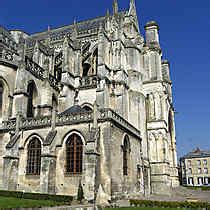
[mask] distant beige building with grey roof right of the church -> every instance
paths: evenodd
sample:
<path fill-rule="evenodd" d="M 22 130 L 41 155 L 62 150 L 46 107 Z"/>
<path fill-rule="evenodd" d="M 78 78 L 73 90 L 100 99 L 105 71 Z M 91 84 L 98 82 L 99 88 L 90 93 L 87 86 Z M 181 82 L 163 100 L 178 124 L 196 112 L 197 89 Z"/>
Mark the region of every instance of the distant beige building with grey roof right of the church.
<path fill-rule="evenodd" d="M 182 184 L 210 186 L 210 151 L 199 148 L 180 159 Z"/>

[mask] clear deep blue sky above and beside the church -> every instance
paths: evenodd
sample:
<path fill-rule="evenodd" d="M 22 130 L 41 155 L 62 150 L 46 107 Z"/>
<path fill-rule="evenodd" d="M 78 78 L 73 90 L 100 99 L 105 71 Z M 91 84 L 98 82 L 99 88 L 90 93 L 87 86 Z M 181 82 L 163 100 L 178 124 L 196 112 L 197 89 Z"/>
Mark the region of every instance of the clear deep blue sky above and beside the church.
<path fill-rule="evenodd" d="M 118 0 L 120 9 L 129 0 Z M 0 25 L 28 33 L 102 16 L 112 0 L 0 0 Z M 163 57 L 171 63 L 178 154 L 210 150 L 210 1 L 136 0 L 141 32 L 160 25 Z"/>

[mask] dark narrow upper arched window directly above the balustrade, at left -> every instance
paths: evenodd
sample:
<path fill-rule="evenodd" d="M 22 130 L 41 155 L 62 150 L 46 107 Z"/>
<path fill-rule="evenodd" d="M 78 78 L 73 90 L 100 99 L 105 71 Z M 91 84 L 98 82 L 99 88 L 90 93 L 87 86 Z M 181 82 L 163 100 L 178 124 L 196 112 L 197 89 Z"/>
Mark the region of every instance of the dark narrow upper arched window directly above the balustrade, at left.
<path fill-rule="evenodd" d="M 27 104 L 27 117 L 34 116 L 34 105 L 33 105 L 33 98 L 34 98 L 34 82 L 30 81 L 28 83 L 27 93 L 28 93 L 28 104 Z"/>

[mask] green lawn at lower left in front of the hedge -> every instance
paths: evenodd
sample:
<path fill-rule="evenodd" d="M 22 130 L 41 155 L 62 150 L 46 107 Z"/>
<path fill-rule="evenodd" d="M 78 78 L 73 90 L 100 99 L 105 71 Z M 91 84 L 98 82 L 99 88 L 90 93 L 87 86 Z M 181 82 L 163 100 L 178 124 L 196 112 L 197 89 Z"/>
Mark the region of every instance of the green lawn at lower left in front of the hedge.
<path fill-rule="evenodd" d="M 31 200 L 0 196 L 0 208 L 33 208 L 43 206 L 58 206 L 62 203 L 49 200 Z"/>

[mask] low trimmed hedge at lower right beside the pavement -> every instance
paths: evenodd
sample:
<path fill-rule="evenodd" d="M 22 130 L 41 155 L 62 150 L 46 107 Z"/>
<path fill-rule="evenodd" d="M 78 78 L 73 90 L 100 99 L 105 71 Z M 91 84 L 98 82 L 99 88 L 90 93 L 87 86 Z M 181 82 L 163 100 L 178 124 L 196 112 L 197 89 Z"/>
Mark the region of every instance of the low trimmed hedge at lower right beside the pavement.
<path fill-rule="evenodd" d="M 135 207 L 164 207 L 164 208 L 206 208 L 210 210 L 210 203 L 207 202 L 176 202 L 176 201 L 151 201 L 151 200 L 130 200 L 130 205 Z"/>

